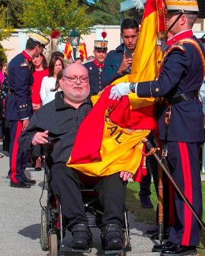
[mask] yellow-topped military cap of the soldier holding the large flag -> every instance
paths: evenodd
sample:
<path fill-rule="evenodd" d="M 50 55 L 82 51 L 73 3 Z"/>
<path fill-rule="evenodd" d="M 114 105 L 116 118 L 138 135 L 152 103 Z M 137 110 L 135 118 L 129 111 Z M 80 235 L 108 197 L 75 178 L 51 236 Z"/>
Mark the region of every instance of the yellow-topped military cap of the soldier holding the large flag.
<path fill-rule="evenodd" d="M 196 0 L 167 0 L 168 13 L 197 14 L 199 8 Z"/>

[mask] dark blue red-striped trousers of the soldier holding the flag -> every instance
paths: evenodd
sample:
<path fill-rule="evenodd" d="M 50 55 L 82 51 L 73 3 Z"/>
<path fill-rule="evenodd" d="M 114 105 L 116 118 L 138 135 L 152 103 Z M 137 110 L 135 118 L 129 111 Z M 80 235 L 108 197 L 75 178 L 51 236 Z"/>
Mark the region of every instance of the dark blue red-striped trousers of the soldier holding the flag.
<path fill-rule="evenodd" d="M 197 214 L 202 217 L 202 186 L 197 143 L 168 142 L 167 159 L 172 177 L 178 183 Z M 175 222 L 169 241 L 184 246 L 200 243 L 200 225 L 178 192 L 174 194 Z"/>

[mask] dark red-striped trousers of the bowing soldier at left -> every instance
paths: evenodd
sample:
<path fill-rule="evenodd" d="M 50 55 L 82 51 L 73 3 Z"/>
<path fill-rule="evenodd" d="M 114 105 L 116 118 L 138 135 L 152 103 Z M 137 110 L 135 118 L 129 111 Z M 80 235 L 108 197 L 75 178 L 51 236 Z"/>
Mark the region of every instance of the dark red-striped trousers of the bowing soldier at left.
<path fill-rule="evenodd" d="M 18 146 L 18 138 L 22 132 L 23 120 L 10 121 L 10 171 L 8 175 L 12 182 L 23 181 L 25 168 L 29 161 L 29 153 L 23 152 Z"/>

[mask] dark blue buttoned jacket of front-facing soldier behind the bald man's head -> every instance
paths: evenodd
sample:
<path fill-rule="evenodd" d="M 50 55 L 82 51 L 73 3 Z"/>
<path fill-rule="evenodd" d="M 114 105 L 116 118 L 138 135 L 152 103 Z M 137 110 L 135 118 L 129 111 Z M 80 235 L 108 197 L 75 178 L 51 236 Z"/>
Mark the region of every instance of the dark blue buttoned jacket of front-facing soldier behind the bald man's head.
<path fill-rule="evenodd" d="M 90 83 L 90 92 L 92 94 L 97 94 L 100 90 L 104 89 L 102 86 L 102 68 L 98 68 L 94 62 L 87 62 L 83 66 L 87 68 L 89 83 Z"/>

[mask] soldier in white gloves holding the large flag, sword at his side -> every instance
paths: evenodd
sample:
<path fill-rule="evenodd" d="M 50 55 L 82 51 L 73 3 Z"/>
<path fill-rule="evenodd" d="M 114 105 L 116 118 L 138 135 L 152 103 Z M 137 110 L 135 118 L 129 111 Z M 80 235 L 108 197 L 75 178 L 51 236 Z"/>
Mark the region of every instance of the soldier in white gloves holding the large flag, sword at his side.
<path fill-rule="evenodd" d="M 110 98 L 136 92 L 138 97 L 166 100 L 159 117 L 159 138 L 164 140 L 169 169 L 197 214 L 202 217 L 202 188 L 198 143 L 204 142 L 202 103 L 198 91 L 204 77 L 204 49 L 192 27 L 197 19 L 197 1 L 167 0 L 167 41 L 163 64 L 156 81 L 121 83 L 111 89 Z M 165 118 L 166 114 L 166 118 Z M 200 243 L 200 225 L 175 192 L 176 216 L 168 241 L 154 246 L 161 255 L 193 255 Z"/>

